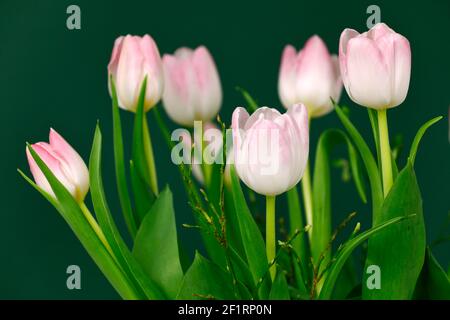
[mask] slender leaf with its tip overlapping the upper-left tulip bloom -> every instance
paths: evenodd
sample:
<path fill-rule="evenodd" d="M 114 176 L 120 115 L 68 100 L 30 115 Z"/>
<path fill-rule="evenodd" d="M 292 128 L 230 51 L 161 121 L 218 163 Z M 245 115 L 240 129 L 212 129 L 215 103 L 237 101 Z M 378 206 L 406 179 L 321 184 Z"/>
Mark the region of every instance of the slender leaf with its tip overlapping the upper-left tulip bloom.
<path fill-rule="evenodd" d="M 131 179 L 137 217 L 145 216 L 150 209 L 151 203 L 153 203 L 155 199 L 155 194 L 151 188 L 151 177 L 149 166 L 147 164 L 144 141 L 144 130 L 146 129 L 144 125 L 144 121 L 146 121 L 144 119 L 146 87 L 147 77 L 145 77 L 141 86 L 133 129 L 132 161 L 135 170 L 131 172 Z M 137 225 L 137 227 L 139 227 L 139 225 Z"/>

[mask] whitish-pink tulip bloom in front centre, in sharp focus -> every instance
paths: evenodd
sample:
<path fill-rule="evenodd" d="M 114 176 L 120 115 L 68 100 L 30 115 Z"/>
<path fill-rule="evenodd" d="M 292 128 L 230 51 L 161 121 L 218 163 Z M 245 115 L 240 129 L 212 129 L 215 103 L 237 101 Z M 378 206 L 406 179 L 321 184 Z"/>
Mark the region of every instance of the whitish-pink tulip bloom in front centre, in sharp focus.
<path fill-rule="evenodd" d="M 309 152 L 308 113 L 302 104 L 285 114 L 267 107 L 251 116 L 233 112 L 234 165 L 254 191 L 275 196 L 294 187 L 305 171 Z"/>

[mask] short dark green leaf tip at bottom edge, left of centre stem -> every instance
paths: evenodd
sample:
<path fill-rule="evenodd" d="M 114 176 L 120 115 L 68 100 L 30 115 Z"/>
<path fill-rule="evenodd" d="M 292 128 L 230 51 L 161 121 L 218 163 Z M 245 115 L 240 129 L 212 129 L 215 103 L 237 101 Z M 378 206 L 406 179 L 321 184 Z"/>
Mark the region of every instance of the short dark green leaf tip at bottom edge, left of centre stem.
<path fill-rule="evenodd" d="M 222 300 L 236 299 L 236 296 L 230 275 L 196 252 L 194 262 L 184 275 L 177 299 Z"/>

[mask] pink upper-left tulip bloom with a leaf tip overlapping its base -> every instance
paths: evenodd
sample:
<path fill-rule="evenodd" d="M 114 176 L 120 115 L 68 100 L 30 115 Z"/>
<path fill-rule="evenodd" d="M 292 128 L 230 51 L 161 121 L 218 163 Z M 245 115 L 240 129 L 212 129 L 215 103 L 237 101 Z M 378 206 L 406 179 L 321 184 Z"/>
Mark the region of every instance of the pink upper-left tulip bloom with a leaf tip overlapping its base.
<path fill-rule="evenodd" d="M 108 64 L 108 73 L 116 85 L 119 107 L 122 109 L 136 112 L 145 77 L 147 87 L 144 110 L 148 111 L 161 99 L 164 86 L 162 62 L 158 47 L 149 35 L 117 38 Z"/>

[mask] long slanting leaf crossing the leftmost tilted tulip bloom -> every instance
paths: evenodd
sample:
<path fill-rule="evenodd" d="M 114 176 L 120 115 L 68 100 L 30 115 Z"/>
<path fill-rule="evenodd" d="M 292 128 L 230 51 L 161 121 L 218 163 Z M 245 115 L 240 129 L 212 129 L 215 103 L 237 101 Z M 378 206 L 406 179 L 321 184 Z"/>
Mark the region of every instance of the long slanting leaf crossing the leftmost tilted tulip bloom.
<path fill-rule="evenodd" d="M 55 208 L 67 222 L 114 289 L 123 299 L 140 298 L 136 289 L 129 282 L 129 279 L 123 273 L 120 266 L 117 265 L 114 258 L 108 252 L 105 245 L 101 242 L 100 238 L 85 218 L 74 197 L 66 190 L 62 183 L 59 182 L 31 146 L 28 146 L 28 150 L 56 195 L 58 206 Z M 50 202 L 53 203 L 52 201 Z"/>

